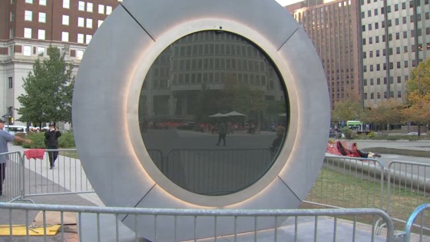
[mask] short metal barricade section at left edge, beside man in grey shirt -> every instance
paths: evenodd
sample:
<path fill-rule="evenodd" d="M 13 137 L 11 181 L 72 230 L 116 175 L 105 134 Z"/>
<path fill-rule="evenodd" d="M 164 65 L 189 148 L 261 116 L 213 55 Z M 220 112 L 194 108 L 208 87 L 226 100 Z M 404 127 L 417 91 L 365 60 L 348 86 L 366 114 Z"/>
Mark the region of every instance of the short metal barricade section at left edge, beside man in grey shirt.
<path fill-rule="evenodd" d="M 21 197 L 21 173 L 20 152 L 0 153 L 0 201 L 14 201 Z"/>

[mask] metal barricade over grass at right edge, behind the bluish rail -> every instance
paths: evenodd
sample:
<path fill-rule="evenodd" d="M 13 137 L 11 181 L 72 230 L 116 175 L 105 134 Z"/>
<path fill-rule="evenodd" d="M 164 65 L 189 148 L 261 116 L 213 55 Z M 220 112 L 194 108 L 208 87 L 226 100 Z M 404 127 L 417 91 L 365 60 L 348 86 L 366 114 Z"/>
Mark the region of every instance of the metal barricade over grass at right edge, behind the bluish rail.
<path fill-rule="evenodd" d="M 418 205 L 430 196 L 430 164 L 393 160 L 387 171 L 387 213 L 405 223 Z M 426 218 L 430 222 L 430 216 Z"/>

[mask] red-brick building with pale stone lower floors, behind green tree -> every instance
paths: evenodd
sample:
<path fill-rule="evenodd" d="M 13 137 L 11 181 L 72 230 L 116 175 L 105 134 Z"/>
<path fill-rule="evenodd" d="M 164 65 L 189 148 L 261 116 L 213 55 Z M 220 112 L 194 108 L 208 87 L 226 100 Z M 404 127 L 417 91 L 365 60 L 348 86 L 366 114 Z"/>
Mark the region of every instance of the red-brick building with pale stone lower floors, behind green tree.
<path fill-rule="evenodd" d="M 50 45 L 65 54 L 76 72 L 95 31 L 119 2 L 122 0 L 0 1 L 0 116 L 12 113 L 11 123 L 19 118 L 17 97 L 24 93 L 23 78 L 36 59 L 47 57 Z"/>

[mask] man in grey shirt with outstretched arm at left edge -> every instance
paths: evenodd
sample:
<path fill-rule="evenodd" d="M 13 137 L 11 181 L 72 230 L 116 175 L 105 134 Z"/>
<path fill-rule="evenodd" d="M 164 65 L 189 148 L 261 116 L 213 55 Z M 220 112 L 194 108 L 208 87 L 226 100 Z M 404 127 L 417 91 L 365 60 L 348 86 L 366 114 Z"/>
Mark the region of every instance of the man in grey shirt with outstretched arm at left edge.
<path fill-rule="evenodd" d="M 5 128 L 5 120 L 0 118 L 0 153 L 9 152 L 8 150 L 8 142 L 18 141 L 31 143 L 31 140 L 19 137 L 17 135 L 9 134 L 9 132 L 4 131 Z M 6 162 L 8 160 L 8 155 L 0 155 L 0 199 L 6 198 L 3 194 L 3 182 L 6 178 Z"/>

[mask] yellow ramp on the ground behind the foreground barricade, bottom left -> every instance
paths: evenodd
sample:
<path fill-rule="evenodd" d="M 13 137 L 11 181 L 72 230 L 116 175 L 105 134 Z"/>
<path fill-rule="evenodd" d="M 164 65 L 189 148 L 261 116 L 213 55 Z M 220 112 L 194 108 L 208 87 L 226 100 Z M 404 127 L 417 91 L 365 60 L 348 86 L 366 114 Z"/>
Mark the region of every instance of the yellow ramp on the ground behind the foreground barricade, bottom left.
<path fill-rule="evenodd" d="M 61 225 L 50 225 L 46 227 L 46 235 L 56 235 Z M 11 234 L 9 225 L 0 225 L 0 236 L 8 236 Z M 25 225 L 12 225 L 12 235 L 14 236 L 25 236 L 27 235 L 27 228 Z M 44 227 L 32 227 L 28 228 L 28 235 L 31 236 L 43 236 Z"/>

